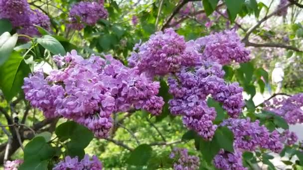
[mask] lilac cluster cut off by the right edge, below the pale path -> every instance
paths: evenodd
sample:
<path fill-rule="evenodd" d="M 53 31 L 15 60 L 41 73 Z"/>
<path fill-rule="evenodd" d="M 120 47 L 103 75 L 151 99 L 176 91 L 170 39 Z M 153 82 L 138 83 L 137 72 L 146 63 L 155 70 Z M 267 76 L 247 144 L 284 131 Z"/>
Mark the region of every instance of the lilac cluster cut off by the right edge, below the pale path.
<path fill-rule="evenodd" d="M 264 110 L 274 112 L 283 117 L 287 123 L 303 123 L 303 93 L 291 97 L 275 97 L 265 102 Z"/>

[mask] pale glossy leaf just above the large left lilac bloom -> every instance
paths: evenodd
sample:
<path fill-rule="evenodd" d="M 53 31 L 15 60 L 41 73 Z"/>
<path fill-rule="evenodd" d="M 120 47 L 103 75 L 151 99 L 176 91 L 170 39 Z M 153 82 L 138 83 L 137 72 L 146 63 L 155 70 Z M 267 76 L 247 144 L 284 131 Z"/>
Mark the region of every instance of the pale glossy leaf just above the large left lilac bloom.
<path fill-rule="evenodd" d="M 50 51 L 52 54 L 60 54 L 61 56 L 65 55 L 63 46 L 56 38 L 50 35 L 43 35 L 41 38 L 37 38 L 37 43 Z"/>

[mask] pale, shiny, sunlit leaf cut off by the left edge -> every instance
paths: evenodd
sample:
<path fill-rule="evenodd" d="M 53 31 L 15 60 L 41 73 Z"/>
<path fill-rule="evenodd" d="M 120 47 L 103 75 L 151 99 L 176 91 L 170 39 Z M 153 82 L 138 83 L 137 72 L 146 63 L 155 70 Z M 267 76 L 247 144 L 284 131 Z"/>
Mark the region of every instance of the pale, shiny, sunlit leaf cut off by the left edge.
<path fill-rule="evenodd" d="M 4 32 L 0 36 L 0 66 L 9 58 L 17 40 L 18 34 L 11 36 L 9 32 Z"/>

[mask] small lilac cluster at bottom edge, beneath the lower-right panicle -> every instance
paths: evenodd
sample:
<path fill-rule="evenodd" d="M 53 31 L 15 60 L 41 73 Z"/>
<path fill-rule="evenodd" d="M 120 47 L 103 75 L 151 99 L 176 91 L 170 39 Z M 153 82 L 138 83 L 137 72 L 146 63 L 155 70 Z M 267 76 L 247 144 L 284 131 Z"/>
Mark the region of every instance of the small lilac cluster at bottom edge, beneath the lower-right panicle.
<path fill-rule="evenodd" d="M 221 149 L 219 154 L 215 156 L 213 163 L 220 170 L 248 170 L 243 167 L 241 151 L 230 153 Z"/>

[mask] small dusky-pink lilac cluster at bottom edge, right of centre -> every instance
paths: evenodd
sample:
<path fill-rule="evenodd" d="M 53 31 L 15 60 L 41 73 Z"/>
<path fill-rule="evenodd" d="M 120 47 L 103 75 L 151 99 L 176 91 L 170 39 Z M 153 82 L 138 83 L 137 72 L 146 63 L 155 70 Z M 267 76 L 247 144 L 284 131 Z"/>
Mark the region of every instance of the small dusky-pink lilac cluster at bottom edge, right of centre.
<path fill-rule="evenodd" d="M 174 148 L 169 155 L 174 160 L 174 170 L 198 170 L 199 157 L 188 155 L 187 149 Z"/>

